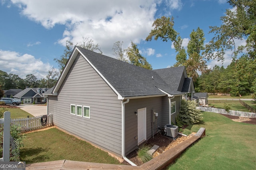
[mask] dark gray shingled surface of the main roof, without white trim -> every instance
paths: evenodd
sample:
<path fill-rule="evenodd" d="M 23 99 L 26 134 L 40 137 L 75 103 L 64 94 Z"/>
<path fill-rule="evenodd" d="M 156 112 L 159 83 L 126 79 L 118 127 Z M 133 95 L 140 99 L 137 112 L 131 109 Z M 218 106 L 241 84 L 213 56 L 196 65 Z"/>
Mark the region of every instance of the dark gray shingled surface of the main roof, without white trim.
<path fill-rule="evenodd" d="M 155 70 L 138 67 L 81 47 L 77 48 L 123 97 L 164 94 L 161 90 L 172 95 L 182 94 L 173 86 L 173 83 L 176 86 L 176 81 L 180 82 L 180 80 L 168 82 Z M 172 74 L 181 77 L 184 67 L 170 68 L 170 70 L 174 70 Z"/>

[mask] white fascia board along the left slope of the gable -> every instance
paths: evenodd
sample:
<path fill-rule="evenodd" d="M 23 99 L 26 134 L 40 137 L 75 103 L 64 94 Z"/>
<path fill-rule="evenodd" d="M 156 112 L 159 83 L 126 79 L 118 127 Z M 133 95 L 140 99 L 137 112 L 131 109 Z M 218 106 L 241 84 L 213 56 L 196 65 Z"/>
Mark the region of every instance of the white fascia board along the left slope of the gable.
<path fill-rule="evenodd" d="M 65 68 L 62 70 L 62 73 L 60 75 L 58 82 L 56 83 L 56 86 L 52 90 L 52 94 L 48 94 L 48 95 L 57 96 L 58 90 L 59 90 L 60 86 L 62 85 L 62 82 L 64 81 L 66 75 L 68 74 L 68 70 L 72 66 L 72 64 L 73 64 L 74 60 L 76 59 L 76 56 L 78 55 L 79 52 L 80 51 L 78 51 L 77 47 L 76 47 L 76 49 L 73 50 L 73 53 L 71 54 L 71 57 L 68 60 L 68 63 L 66 64 Z"/>

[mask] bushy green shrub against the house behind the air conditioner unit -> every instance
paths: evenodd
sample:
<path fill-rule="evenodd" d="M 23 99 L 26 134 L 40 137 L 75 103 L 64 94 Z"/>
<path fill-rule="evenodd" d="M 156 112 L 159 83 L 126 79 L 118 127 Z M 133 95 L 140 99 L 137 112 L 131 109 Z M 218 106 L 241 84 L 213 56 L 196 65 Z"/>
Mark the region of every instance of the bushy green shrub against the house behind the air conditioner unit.
<path fill-rule="evenodd" d="M 190 100 L 181 100 L 180 113 L 176 117 L 176 125 L 196 124 L 200 121 L 201 111 L 196 109 L 196 103 Z"/>

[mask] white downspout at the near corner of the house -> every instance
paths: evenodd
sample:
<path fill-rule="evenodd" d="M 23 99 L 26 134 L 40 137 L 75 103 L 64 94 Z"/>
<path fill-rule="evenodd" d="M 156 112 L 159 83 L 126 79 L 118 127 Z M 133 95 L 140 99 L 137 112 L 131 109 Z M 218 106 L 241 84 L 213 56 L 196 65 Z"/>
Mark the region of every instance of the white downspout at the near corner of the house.
<path fill-rule="evenodd" d="M 124 128 L 124 125 L 125 125 L 125 121 L 124 121 L 125 115 L 124 115 L 124 113 L 125 113 L 125 104 L 127 104 L 130 101 L 130 99 L 127 99 L 126 102 L 123 102 L 123 101 L 124 100 L 122 100 L 122 157 L 130 165 L 137 166 L 136 164 L 134 164 L 132 161 L 130 161 L 125 156 L 125 128 Z"/>

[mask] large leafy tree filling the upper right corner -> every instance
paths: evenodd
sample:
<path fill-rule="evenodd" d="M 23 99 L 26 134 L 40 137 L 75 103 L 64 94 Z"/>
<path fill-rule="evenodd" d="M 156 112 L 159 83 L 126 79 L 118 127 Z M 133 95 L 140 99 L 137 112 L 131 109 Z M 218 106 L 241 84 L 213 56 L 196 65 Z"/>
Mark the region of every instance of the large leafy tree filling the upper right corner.
<path fill-rule="evenodd" d="M 210 26 L 210 33 L 215 36 L 206 45 L 204 55 L 207 59 L 224 60 L 227 50 L 233 50 L 232 57 L 236 59 L 243 50 L 251 59 L 256 59 L 256 1 L 229 0 L 234 11 L 227 9 L 226 16 L 222 16 L 220 27 Z M 236 39 L 246 39 L 246 45 L 236 47 Z"/>

